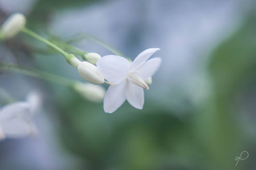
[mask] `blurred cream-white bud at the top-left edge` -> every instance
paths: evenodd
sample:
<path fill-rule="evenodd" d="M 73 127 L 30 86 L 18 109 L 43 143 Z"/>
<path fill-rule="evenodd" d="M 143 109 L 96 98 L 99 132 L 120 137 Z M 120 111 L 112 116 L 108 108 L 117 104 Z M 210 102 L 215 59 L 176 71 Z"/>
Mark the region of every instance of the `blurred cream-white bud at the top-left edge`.
<path fill-rule="evenodd" d="M 15 13 L 11 15 L 2 25 L 0 32 L 3 39 L 15 36 L 26 24 L 23 14 Z"/>

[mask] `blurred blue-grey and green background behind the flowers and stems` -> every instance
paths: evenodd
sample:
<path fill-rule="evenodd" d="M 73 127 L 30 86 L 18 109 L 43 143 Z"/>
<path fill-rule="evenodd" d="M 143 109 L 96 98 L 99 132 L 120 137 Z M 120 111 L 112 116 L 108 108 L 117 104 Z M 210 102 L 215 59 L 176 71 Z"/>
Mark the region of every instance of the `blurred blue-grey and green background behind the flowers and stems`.
<path fill-rule="evenodd" d="M 0 142 L 0 169 L 256 169 L 255 11 L 253 0 L 0 0 L 0 23 L 22 12 L 44 37 L 86 32 L 130 58 L 147 48 L 162 58 L 143 110 L 126 101 L 112 114 L 59 84 L 1 72 L 16 100 L 36 89 L 44 104 L 37 137 Z M 1 42 L 0 60 L 84 81 L 23 33 Z M 235 166 L 242 151 L 249 157 Z"/>

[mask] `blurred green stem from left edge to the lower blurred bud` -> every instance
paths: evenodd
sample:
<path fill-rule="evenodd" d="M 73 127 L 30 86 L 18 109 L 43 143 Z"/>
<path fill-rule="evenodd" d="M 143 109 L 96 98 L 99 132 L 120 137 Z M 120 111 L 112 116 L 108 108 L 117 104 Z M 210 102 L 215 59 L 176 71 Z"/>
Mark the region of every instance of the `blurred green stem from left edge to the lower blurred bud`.
<path fill-rule="evenodd" d="M 29 69 L 26 67 L 21 67 L 17 65 L 12 65 L 9 63 L 0 62 L 0 70 L 7 70 L 14 73 L 35 76 L 37 78 L 41 78 L 44 80 L 48 80 L 49 82 L 61 84 L 66 87 L 71 87 L 75 81 L 63 78 L 61 76 L 53 75 L 50 73 L 46 73 L 44 71 L 36 70 L 36 69 Z"/>

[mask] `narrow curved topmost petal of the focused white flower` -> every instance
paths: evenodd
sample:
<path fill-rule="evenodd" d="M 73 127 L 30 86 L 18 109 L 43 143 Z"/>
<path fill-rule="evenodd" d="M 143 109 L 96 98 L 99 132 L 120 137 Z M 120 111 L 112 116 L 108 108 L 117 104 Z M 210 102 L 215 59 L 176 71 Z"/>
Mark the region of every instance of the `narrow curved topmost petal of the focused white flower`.
<path fill-rule="evenodd" d="M 144 50 L 143 52 L 141 52 L 133 61 L 133 63 L 131 64 L 131 71 L 135 71 L 137 69 L 139 69 L 140 66 L 143 65 L 144 62 L 147 61 L 148 58 L 150 58 L 150 56 L 152 56 L 152 54 L 154 54 L 156 51 L 160 50 L 159 48 L 149 48 Z"/>

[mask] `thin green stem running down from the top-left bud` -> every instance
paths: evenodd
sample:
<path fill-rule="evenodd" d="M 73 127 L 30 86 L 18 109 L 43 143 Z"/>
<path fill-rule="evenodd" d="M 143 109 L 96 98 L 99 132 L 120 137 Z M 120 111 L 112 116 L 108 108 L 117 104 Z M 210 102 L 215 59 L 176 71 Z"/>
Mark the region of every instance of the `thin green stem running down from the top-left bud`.
<path fill-rule="evenodd" d="M 53 44 L 52 42 L 50 42 L 50 41 L 48 41 L 48 40 L 46 40 L 46 39 L 44 39 L 42 36 L 38 35 L 37 33 L 31 31 L 30 29 L 28 29 L 28 28 L 26 28 L 26 27 L 24 27 L 24 28 L 22 29 L 22 31 L 23 31 L 24 33 L 27 33 L 28 35 L 34 37 L 35 39 L 38 39 L 38 40 L 40 40 L 40 41 L 46 43 L 47 45 L 51 46 L 52 48 L 56 49 L 58 52 L 60 52 L 61 54 L 63 54 L 63 56 L 64 56 L 66 59 L 68 59 L 68 55 L 69 55 L 69 54 L 66 53 L 66 52 L 64 52 L 64 50 L 62 50 L 61 48 L 59 48 L 59 46 Z"/>

